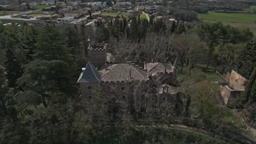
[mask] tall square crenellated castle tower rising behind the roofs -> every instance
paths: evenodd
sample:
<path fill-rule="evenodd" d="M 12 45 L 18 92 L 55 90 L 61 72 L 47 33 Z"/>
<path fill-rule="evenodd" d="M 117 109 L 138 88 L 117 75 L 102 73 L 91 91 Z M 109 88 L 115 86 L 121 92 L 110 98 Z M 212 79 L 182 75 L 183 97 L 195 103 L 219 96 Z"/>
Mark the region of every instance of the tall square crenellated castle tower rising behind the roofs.
<path fill-rule="evenodd" d="M 92 39 L 91 33 L 89 33 L 88 41 L 89 41 L 88 56 L 91 63 L 94 64 L 95 67 L 100 67 L 101 65 L 104 65 L 107 61 L 107 56 L 106 56 L 107 44 L 104 44 L 104 43 L 95 44 L 95 41 Z"/>

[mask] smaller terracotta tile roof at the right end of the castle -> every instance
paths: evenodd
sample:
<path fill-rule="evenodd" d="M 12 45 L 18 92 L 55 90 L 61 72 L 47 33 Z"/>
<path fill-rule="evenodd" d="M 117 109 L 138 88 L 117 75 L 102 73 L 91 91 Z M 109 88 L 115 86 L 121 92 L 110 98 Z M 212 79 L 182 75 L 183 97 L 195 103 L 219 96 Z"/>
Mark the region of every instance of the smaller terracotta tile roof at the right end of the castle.
<path fill-rule="evenodd" d="M 164 73 L 166 68 L 167 73 L 173 72 L 171 63 L 147 63 L 146 68 L 149 75 Z"/>

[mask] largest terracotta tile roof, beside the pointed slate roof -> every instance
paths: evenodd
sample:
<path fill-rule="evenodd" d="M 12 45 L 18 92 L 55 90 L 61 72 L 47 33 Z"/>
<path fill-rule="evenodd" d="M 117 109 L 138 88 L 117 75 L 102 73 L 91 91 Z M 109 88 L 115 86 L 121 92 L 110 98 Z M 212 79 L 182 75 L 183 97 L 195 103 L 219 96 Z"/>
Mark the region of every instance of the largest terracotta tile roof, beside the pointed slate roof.
<path fill-rule="evenodd" d="M 100 70 L 102 81 L 147 80 L 147 71 L 132 64 L 108 64 L 108 69 Z"/>

